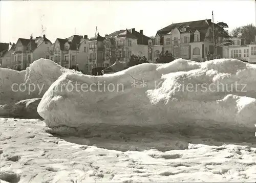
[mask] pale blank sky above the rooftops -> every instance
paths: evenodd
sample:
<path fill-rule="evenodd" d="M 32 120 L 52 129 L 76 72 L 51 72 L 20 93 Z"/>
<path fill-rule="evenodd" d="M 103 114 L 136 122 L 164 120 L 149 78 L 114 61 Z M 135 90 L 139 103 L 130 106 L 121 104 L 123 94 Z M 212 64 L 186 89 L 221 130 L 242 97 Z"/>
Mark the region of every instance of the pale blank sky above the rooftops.
<path fill-rule="evenodd" d="M 240 1 L 1 1 L 1 42 L 46 34 L 56 38 L 102 36 L 121 29 L 153 36 L 173 22 L 210 19 L 233 28 L 256 23 L 255 0 Z"/>

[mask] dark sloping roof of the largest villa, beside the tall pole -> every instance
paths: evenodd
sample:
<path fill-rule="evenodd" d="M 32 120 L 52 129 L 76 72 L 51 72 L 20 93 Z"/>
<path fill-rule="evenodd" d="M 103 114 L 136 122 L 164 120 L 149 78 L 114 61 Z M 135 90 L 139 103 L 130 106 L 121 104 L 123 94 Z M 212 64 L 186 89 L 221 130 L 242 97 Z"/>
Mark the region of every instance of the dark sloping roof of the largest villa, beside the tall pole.
<path fill-rule="evenodd" d="M 175 28 L 181 29 L 181 28 L 189 28 L 188 30 L 193 31 L 194 30 L 200 30 L 200 29 L 207 29 L 212 24 L 211 19 L 206 20 L 197 20 L 197 21 L 187 21 L 187 22 L 181 22 L 177 24 L 171 24 L 163 29 L 160 29 L 157 31 L 157 34 L 164 35 L 169 33 Z"/>

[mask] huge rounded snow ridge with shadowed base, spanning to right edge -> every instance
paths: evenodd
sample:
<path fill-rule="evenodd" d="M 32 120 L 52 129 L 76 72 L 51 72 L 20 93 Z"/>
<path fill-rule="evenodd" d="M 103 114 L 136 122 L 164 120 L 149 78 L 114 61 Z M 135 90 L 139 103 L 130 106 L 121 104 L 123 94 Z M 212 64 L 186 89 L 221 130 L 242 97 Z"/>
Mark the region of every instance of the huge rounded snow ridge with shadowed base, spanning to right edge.
<path fill-rule="evenodd" d="M 37 111 L 51 128 L 183 124 L 252 130 L 255 83 L 256 65 L 236 59 L 144 63 L 104 76 L 65 73 L 46 91 Z"/>

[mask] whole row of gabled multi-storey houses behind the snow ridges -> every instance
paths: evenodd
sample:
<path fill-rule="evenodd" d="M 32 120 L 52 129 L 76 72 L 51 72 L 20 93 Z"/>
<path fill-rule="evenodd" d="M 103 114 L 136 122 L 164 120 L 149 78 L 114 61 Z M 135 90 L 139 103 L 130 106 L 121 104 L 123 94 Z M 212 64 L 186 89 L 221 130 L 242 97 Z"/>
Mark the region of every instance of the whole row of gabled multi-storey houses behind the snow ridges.
<path fill-rule="evenodd" d="M 161 52 L 173 53 L 175 58 L 202 62 L 209 51 L 215 52 L 211 19 L 181 22 L 157 31 L 154 38 L 143 30 L 124 29 L 104 36 L 73 35 L 57 38 L 54 43 L 46 38 L 32 36 L 19 38 L 16 43 L 1 43 L 1 66 L 24 70 L 34 60 L 47 58 L 66 68 L 75 68 L 92 74 L 92 68 L 108 67 L 117 59 L 128 62 L 131 55 L 145 56 L 156 61 Z M 244 44 L 241 38 L 230 37 L 232 45 L 226 45 L 227 33 L 219 34 L 216 52 L 220 58 L 237 58 L 256 63 L 256 43 Z"/>

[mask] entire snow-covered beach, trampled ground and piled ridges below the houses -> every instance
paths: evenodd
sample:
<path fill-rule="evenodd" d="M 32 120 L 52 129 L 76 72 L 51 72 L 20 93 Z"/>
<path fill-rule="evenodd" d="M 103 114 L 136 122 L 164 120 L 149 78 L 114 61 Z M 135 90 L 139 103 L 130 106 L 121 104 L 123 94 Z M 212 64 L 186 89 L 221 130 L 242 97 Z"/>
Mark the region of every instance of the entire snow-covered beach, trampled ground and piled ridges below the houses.
<path fill-rule="evenodd" d="M 104 76 L 47 59 L 22 72 L 1 68 L 0 112 L 9 115 L 1 118 L 1 182 L 255 182 L 255 76 L 255 65 L 235 59 L 178 59 Z M 124 90 L 57 87 L 76 82 Z M 13 83 L 38 88 L 28 97 L 12 92 Z M 180 90 L 204 83 L 215 85 Z M 18 103 L 26 99 L 33 101 Z M 44 120 L 25 119 L 37 105 Z"/>

